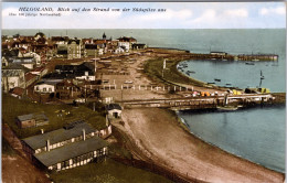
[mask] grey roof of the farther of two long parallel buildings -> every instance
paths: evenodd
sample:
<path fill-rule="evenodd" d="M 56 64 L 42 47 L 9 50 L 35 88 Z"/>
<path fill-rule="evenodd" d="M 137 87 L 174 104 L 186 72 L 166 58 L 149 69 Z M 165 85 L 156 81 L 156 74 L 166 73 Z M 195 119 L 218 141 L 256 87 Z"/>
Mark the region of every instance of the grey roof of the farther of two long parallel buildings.
<path fill-rule="evenodd" d="M 50 140 L 50 144 L 54 144 L 61 141 L 72 139 L 74 137 L 82 136 L 82 130 L 85 129 L 86 134 L 95 132 L 96 130 L 92 128 L 86 122 L 78 122 L 73 128 L 61 128 L 54 131 L 50 131 L 43 134 L 38 134 L 23 139 L 23 141 L 29 144 L 32 149 L 36 150 L 46 146 L 46 140 Z"/>

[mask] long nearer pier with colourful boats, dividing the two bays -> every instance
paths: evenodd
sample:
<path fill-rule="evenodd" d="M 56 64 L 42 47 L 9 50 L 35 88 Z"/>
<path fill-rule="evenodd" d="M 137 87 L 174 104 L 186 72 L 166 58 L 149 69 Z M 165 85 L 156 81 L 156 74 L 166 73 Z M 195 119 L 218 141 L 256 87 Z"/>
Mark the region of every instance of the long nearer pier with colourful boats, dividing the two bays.
<path fill-rule="evenodd" d="M 215 109 L 217 106 L 242 106 L 285 104 L 285 94 L 244 94 L 232 96 L 209 96 L 172 99 L 149 99 L 149 100 L 123 100 L 118 101 L 126 108 L 158 107 L 172 110 L 185 109 Z"/>

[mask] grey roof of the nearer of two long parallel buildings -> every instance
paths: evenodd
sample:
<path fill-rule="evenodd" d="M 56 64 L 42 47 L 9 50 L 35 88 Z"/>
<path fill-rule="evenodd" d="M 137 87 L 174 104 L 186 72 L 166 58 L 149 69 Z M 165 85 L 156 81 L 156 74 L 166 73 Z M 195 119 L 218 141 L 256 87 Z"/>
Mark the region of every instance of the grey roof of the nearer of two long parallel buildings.
<path fill-rule="evenodd" d="M 70 143 L 52 151 L 35 154 L 35 158 L 41 161 L 45 166 L 50 166 L 105 147 L 107 147 L 106 141 L 102 140 L 98 137 L 93 137 L 84 141 Z"/>

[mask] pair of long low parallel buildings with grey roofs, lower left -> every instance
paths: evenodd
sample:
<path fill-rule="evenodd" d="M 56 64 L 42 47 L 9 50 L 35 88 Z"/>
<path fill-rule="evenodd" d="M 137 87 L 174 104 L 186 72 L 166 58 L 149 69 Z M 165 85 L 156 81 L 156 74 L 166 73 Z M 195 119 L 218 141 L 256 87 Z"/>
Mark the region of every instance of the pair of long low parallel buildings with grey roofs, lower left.
<path fill-rule="evenodd" d="M 61 171 L 97 161 L 107 155 L 108 143 L 85 121 L 22 139 L 24 152 L 40 168 Z"/>

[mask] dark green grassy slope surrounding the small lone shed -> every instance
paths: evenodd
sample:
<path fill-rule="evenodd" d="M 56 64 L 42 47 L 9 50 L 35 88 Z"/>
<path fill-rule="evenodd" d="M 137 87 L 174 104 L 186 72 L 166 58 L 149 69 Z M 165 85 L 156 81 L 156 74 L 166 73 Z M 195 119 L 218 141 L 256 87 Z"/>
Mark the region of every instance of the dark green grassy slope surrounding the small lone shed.
<path fill-rule="evenodd" d="M 65 111 L 60 112 L 60 110 Z M 15 125 L 17 116 L 41 111 L 44 111 L 47 116 L 50 125 L 28 129 L 19 129 Z M 39 134 L 40 129 L 52 131 L 62 128 L 66 122 L 79 119 L 85 119 L 96 129 L 103 129 L 106 125 L 104 111 L 93 111 L 86 106 L 75 108 L 68 105 L 42 105 L 18 99 L 6 94 L 2 95 L 2 120 L 12 128 L 19 138 Z"/>

